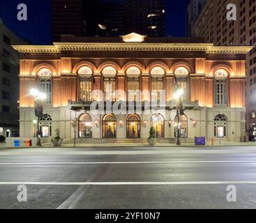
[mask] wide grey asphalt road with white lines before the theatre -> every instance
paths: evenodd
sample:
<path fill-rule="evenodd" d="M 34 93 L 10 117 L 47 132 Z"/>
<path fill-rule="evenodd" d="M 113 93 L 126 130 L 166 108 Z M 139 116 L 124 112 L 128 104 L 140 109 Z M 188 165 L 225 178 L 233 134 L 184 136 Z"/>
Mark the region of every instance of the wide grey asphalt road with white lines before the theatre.
<path fill-rule="evenodd" d="M 27 187 L 25 202 L 17 201 L 18 185 Z M 226 199 L 228 185 L 236 202 Z M 1 150 L 0 201 L 0 208 L 256 208 L 256 148 Z"/>

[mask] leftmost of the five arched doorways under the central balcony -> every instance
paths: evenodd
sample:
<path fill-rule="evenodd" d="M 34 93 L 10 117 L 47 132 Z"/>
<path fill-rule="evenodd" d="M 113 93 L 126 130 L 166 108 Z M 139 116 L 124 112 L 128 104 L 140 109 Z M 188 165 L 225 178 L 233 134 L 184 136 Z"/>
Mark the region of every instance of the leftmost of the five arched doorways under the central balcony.
<path fill-rule="evenodd" d="M 78 119 L 78 137 L 92 137 L 92 118 L 89 114 L 82 114 Z"/>

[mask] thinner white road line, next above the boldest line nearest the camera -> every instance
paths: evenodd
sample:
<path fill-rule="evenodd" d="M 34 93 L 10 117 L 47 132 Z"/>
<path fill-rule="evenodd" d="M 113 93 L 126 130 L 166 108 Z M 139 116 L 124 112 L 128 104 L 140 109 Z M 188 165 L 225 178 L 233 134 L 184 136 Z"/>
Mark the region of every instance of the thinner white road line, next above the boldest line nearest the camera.
<path fill-rule="evenodd" d="M 237 163 L 256 160 L 192 160 L 192 161 L 145 161 L 145 162 L 0 162 L 0 165 L 53 165 L 53 164 L 183 164 L 183 163 Z"/>

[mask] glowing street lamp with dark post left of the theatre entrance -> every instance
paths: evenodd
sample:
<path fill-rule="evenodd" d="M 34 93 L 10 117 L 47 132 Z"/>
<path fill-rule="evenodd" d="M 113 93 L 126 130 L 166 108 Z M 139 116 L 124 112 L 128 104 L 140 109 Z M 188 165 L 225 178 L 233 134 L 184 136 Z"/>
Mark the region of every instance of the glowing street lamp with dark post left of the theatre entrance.
<path fill-rule="evenodd" d="M 42 146 L 40 141 L 40 129 L 39 129 L 39 119 L 43 116 L 43 102 L 46 100 L 46 94 L 38 91 L 38 89 L 31 89 L 29 94 L 33 97 L 35 102 L 35 114 L 38 117 L 37 121 L 37 131 L 36 131 L 36 146 Z M 36 124 L 35 122 L 33 122 Z"/>

